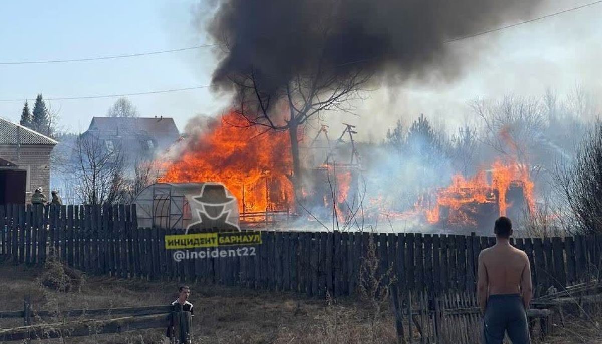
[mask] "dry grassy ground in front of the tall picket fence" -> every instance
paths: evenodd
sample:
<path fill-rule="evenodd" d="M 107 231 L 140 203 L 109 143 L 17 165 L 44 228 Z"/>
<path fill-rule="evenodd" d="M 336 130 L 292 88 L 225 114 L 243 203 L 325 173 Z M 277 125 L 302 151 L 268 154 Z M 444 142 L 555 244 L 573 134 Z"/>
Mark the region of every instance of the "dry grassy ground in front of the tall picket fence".
<path fill-rule="evenodd" d="M 0 264 L 0 309 L 22 310 L 25 295 L 35 310 L 157 306 L 171 303 L 178 289 L 173 282 L 89 277 L 81 290 L 64 293 L 40 286 L 41 273 L 40 268 Z M 316 301 L 293 293 L 190 286 L 193 343 L 397 343 L 386 305 L 375 310 L 350 299 Z M 557 325 L 540 343 L 602 343 L 602 330 L 596 328 L 601 320 L 568 317 L 565 327 Z M 22 325 L 22 319 L 0 319 L 0 328 Z M 157 329 L 32 342 L 162 343 L 163 334 L 164 329 Z"/>

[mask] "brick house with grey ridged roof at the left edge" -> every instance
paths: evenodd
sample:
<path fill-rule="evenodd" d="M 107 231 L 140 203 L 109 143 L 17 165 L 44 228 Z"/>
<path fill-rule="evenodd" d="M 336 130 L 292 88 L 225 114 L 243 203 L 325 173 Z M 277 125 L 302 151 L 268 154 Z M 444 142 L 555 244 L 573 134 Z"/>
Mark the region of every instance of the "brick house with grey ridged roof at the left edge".
<path fill-rule="evenodd" d="M 0 204 L 29 203 L 38 186 L 49 196 L 50 155 L 57 141 L 0 118 Z"/>

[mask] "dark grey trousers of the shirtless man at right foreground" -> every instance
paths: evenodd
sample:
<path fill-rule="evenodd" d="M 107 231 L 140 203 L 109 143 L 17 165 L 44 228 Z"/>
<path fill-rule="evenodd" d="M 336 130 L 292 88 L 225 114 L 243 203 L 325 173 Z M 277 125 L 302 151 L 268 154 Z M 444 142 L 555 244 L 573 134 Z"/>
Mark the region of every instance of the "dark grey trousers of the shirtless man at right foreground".
<path fill-rule="evenodd" d="M 504 333 L 512 344 L 529 344 L 529 325 L 518 294 L 489 295 L 483 316 L 483 343 L 501 344 Z"/>

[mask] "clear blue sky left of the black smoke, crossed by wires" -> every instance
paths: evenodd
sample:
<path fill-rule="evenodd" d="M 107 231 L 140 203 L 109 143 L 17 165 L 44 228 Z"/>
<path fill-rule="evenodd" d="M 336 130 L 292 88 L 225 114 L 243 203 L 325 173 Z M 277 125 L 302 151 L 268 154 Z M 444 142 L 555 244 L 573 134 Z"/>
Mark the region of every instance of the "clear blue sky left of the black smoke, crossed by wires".
<path fill-rule="evenodd" d="M 201 45 L 194 1 L 2 1 L 0 61 L 86 58 Z M 208 84 L 210 48 L 138 58 L 61 64 L 0 65 L 0 99 L 45 98 L 185 88 Z M 180 129 L 212 113 L 208 89 L 130 97 L 141 115 L 175 117 Z M 61 124 L 85 130 L 116 99 L 56 100 Z M 18 120 L 22 102 L 0 102 L 0 116 Z"/>

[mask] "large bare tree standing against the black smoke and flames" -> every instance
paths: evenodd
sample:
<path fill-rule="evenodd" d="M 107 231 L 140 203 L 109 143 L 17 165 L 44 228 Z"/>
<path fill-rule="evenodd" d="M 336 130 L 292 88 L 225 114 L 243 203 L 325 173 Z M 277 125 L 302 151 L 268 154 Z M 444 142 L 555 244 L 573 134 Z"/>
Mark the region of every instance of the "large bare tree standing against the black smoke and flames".
<path fill-rule="evenodd" d="M 352 100 L 362 97 L 362 87 L 371 73 L 361 64 L 334 64 L 325 57 L 329 23 L 316 19 L 315 27 L 323 39 L 315 46 L 314 58 L 304 60 L 304 67 L 285 76 L 266 75 L 254 66 L 228 75 L 237 97 L 235 111 L 243 124 L 233 126 L 264 127 L 266 131 L 287 131 L 290 136 L 293 171 L 290 176 L 297 198 L 302 195 L 303 167 L 299 154 L 299 132 L 311 118 L 325 112 L 353 112 Z M 227 44 L 227 42 L 225 42 Z M 328 60 L 332 61 L 332 60 Z"/>

